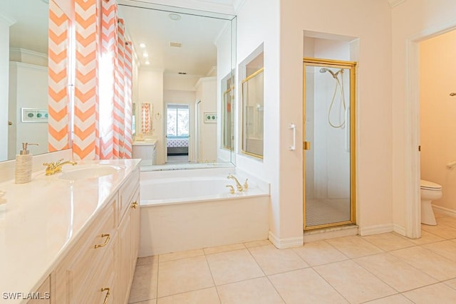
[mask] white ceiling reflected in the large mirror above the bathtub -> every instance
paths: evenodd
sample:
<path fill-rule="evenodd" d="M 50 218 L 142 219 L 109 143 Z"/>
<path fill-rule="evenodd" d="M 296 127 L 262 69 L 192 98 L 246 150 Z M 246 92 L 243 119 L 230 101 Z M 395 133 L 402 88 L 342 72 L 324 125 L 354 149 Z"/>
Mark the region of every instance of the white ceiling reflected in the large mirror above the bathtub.
<path fill-rule="evenodd" d="M 169 7 L 156 10 L 123 5 L 134 2 L 119 1 L 118 14 L 125 20 L 125 32 L 133 41 L 142 68 L 147 60 L 150 68 L 163 69 L 165 73 L 207 75 L 217 65 L 214 43 L 229 21 L 182 13 L 178 13 L 180 20 L 173 21 L 173 9 Z M 171 42 L 182 43 L 182 47 L 172 47 Z M 146 47 L 140 48 L 140 43 Z M 142 56 L 144 51 L 147 58 Z"/>

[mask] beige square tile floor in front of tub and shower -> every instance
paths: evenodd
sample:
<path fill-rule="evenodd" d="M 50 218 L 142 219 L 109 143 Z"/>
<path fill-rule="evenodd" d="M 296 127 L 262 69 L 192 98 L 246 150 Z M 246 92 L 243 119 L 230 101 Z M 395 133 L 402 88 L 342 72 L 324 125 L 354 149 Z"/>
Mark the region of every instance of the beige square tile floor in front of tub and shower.
<path fill-rule="evenodd" d="M 139 258 L 130 303 L 456 303 L 456 217 L 420 239 L 346 236 L 276 249 L 269 241 Z"/>

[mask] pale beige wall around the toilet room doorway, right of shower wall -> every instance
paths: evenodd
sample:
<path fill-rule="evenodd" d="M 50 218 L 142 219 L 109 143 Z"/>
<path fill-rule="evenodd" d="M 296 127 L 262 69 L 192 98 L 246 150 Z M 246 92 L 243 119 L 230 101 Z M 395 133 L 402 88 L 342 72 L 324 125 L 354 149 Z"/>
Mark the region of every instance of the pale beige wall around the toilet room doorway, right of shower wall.
<path fill-rule="evenodd" d="M 405 181 L 408 178 L 406 162 L 409 151 L 418 154 L 418 147 L 411 142 L 408 125 L 418 120 L 410 117 L 410 109 L 418 107 L 415 104 L 414 94 L 418 95 L 418 83 L 410 88 L 410 79 L 418 77 L 418 58 L 413 61 L 413 49 L 410 41 L 418 43 L 425 38 L 435 35 L 439 31 L 455 27 L 456 1 L 453 0 L 407 0 L 395 6 L 392 13 L 393 24 L 393 52 L 392 52 L 392 83 L 393 83 L 393 216 L 399 227 L 407 225 L 409 214 L 406 202 L 410 199 L 409 187 Z M 405 22 L 406 21 L 406 22 Z M 406 48 L 406 46 L 409 46 Z M 413 62 L 410 62 L 413 61 Z M 409 66 L 412 65 L 411 68 Z M 414 70 L 410 73 L 410 70 Z M 411 95 L 410 95 L 411 94 Z M 410 120 L 412 120 L 410 122 Z M 419 143 L 416 142 L 418 145 Z M 419 163 L 418 163 L 419 164 Z M 409 164 L 415 167 L 415 164 Z M 418 183 L 418 181 L 417 181 Z M 419 188 L 416 189 L 419 192 Z M 418 194 L 415 194 L 418 196 Z M 418 204 L 418 201 L 416 202 Z"/>

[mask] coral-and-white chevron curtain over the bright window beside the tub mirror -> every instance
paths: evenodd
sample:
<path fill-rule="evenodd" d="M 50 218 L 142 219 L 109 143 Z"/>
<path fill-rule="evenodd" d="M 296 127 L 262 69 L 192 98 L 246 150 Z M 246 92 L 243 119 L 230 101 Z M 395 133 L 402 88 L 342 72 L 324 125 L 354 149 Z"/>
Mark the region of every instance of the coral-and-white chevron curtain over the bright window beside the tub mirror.
<path fill-rule="evenodd" d="M 117 4 L 76 0 L 75 13 L 73 157 L 131 158 L 133 49 Z"/>

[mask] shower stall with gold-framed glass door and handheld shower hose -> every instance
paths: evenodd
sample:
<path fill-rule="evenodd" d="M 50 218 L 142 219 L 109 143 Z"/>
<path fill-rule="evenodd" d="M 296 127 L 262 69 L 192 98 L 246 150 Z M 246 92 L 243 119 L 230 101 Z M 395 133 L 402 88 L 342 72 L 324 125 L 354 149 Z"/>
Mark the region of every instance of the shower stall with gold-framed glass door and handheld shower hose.
<path fill-rule="evenodd" d="M 355 67 L 304 58 L 304 230 L 355 224 Z"/>

